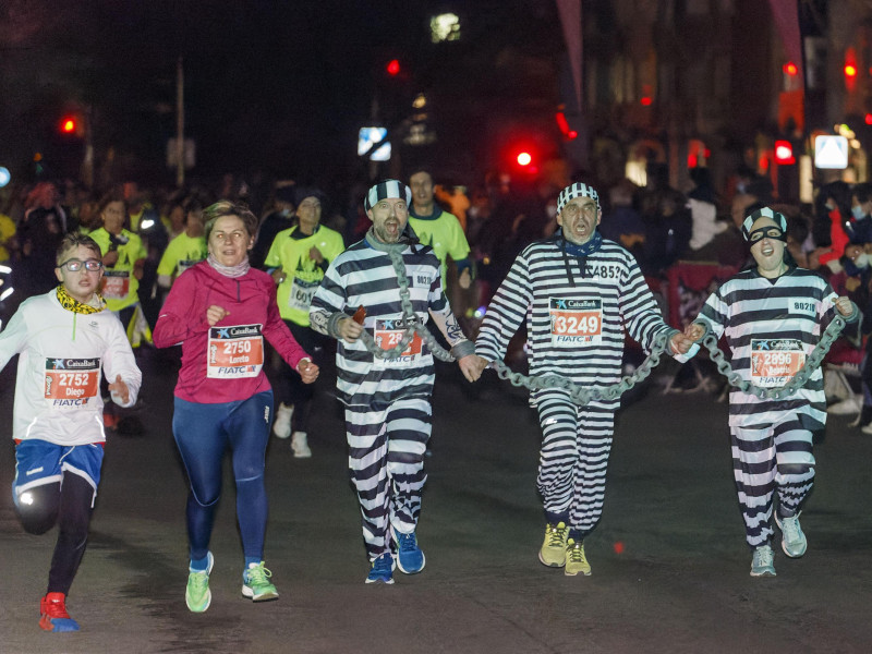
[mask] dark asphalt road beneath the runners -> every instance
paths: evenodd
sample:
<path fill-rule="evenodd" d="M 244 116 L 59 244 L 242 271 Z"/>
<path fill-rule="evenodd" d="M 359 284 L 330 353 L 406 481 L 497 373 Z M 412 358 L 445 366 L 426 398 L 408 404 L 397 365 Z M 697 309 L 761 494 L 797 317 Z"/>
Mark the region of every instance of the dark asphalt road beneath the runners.
<path fill-rule="evenodd" d="M 538 428 L 523 396 L 491 378 L 473 398 L 437 383 L 419 538 L 425 570 L 367 585 L 341 412 L 319 396 L 314 458 L 267 456 L 267 567 L 281 593 L 240 595 L 232 481 L 213 536 L 213 603 L 184 604 L 186 483 L 170 432 L 173 365 L 145 352 L 141 435 L 107 446 L 92 537 L 68 607 L 77 633 L 37 626 L 56 532 L 23 532 L 9 493 L 11 370 L 0 376 L 0 652 L 546 653 L 869 652 L 872 438 L 834 417 L 802 514 L 809 552 L 776 550 L 752 579 L 736 505 L 726 405 L 652 385 L 619 413 L 605 512 L 586 540 L 591 577 L 543 567 Z M 325 378 L 324 387 L 329 386 Z M 130 419 L 129 419 L 130 420 Z M 130 422 L 128 424 L 131 424 Z M 229 472 L 229 470 L 228 470 Z"/>

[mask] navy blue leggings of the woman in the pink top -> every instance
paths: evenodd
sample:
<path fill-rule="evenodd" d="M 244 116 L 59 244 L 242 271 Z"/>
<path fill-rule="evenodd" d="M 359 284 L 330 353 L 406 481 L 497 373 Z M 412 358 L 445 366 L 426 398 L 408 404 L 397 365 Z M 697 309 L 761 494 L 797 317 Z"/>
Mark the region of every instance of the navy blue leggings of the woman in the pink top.
<path fill-rule="evenodd" d="M 271 390 L 221 404 L 175 398 L 172 432 L 191 482 L 187 538 L 192 559 L 208 553 L 221 496 L 222 462 L 230 448 L 242 549 L 246 558 L 263 560 L 267 516 L 264 459 L 271 424 Z"/>

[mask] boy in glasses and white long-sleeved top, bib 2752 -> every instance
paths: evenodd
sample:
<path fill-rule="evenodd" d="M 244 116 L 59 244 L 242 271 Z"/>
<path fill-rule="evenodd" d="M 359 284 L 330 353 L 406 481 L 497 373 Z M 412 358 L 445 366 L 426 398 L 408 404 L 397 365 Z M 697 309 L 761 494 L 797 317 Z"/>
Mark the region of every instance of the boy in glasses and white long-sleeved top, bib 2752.
<path fill-rule="evenodd" d="M 121 323 L 97 293 L 102 277 L 97 243 L 65 235 L 57 264 L 58 288 L 22 303 L 0 332 L 0 370 L 21 355 L 12 427 L 15 510 L 29 533 L 59 525 L 39 627 L 77 631 L 65 602 L 100 482 L 106 441 L 100 371 L 121 407 L 136 402 L 142 373 Z"/>

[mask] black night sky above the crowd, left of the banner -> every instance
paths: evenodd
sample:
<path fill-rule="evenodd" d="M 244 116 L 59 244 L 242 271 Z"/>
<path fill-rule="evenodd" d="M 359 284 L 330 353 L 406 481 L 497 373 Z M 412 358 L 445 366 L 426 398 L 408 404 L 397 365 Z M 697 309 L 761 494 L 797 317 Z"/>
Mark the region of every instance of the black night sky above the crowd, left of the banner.
<path fill-rule="evenodd" d="M 434 46 L 427 20 L 444 9 L 463 39 Z M 49 147 L 80 102 L 95 108 L 98 157 L 112 145 L 122 166 L 160 169 L 181 53 L 197 172 L 324 179 L 354 166 L 375 96 L 390 114 L 432 93 L 444 148 L 495 108 L 553 104 L 562 38 L 550 1 L 4 0 L 0 53 L 0 156 Z M 397 88 L 383 68 L 395 57 L 409 71 Z"/>

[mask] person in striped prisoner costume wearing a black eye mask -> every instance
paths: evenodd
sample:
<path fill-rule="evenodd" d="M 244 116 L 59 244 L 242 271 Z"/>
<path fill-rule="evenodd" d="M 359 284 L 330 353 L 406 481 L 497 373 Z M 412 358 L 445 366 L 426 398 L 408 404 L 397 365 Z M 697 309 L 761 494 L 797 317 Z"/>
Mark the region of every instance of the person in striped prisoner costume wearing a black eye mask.
<path fill-rule="evenodd" d="M 705 302 L 686 335 L 699 340 L 706 330 L 726 336 L 732 368 L 746 382 L 764 388 L 787 384 L 821 339 L 833 308 L 859 327 L 860 313 L 848 298 L 836 298 L 816 272 L 786 259 L 787 220 L 768 207 L 744 219 L 742 234 L 751 243 L 755 268 L 724 282 Z M 772 547 L 773 493 L 778 494 L 775 522 L 782 549 L 806 554 L 800 507 L 814 480 L 812 433 L 826 423 L 823 374 L 814 371 L 796 393 L 761 399 L 731 388 L 729 427 L 732 469 L 746 540 L 753 548 L 751 577 L 775 576 Z"/>

